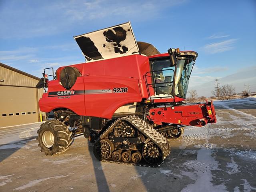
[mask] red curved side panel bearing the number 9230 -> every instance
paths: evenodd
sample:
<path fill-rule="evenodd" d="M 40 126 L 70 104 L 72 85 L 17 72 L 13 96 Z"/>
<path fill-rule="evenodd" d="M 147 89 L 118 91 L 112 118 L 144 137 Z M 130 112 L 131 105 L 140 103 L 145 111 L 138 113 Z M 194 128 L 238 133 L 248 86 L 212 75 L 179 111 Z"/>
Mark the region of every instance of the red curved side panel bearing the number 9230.
<path fill-rule="evenodd" d="M 124 104 L 141 102 L 138 79 L 118 76 L 87 76 L 86 90 L 113 90 L 113 88 L 128 88 L 122 93 L 85 94 L 86 116 L 96 116 L 110 119 L 114 112 Z"/>

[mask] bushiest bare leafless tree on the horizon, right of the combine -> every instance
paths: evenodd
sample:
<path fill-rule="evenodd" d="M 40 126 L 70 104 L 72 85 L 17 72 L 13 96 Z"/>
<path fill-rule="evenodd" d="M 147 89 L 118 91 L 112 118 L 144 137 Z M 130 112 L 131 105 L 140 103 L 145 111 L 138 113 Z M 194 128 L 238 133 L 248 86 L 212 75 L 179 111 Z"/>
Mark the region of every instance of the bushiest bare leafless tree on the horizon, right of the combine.
<path fill-rule="evenodd" d="M 232 95 L 236 94 L 236 92 L 234 86 L 227 84 L 219 87 L 218 90 L 215 89 L 212 91 L 212 94 L 216 97 L 219 96 L 222 100 L 229 100 Z"/>

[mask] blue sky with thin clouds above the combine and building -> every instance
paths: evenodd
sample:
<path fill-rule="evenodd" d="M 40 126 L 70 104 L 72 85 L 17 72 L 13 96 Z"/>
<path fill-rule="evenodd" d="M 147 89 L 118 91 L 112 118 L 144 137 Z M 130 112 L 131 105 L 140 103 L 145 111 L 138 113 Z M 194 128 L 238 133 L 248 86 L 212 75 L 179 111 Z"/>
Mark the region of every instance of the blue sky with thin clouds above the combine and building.
<path fill-rule="evenodd" d="M 43 68 L 84 62 L 73 36 L 127 21 L 137 41 L 160 52 L 198 52 L 189 88 L 204 85 L 200 96 L 210 96 L 215 78 L 256 91 L 247 75 L 256 70 L 255 0 L 0 0 L 0 62 L 41 77 Z"/>

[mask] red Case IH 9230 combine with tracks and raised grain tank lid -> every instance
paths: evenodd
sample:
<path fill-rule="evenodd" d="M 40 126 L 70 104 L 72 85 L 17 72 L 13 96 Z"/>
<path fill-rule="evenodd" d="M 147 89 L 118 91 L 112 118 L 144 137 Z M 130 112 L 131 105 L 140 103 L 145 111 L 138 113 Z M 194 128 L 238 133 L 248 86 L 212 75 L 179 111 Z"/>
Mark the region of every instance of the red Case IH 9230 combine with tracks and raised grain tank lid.
<path fill-rule="evenodd" d="M 158 166 L 170 154 L 167 138 L 216 122 L 212 102 L 182 103 L 196 52 L 160 54 L 136 42 L 130 22 L 74 38 L 86 63 L 60 67 L 56 76 L 44 70 L 37 85 L 45 90 L 40 110 L 55 114 L 38 130 L 46 155 L 66 151 L 84 134 L 99 160 Z"/>

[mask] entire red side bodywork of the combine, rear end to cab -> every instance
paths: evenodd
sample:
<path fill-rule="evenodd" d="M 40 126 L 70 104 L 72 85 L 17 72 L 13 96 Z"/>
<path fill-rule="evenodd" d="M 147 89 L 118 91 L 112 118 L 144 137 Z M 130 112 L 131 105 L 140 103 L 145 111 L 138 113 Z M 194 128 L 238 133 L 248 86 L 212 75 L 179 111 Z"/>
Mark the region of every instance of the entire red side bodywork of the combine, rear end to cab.
<path fill-rule="evenodd" d="M 58 80 L 49 81 L 48 93 L 43 94 L 43 98 L 39 101 L 41 111 L 50 112 L 55 108 L 68 108 L 81 116 L 110 119 L 120 106 L 141 102 L 142 98 L 148 98 L 146 83 L 143 80 L 144 74 L 150 71 L 147 56 L 134 54 L 76 64 L 72 67 L 76 67 L 82 76 L 77 78 L 71 90 L 83 90 L 84 94 L 64 97 L 54 94 L 50 97 L 49 92 L 57 93 L 66 90 Z M 63 68 L 60 67 L 56 71 L 58 79 Z M 106 92 L 113 88 L 127 88 L 128 91 Z"/>

